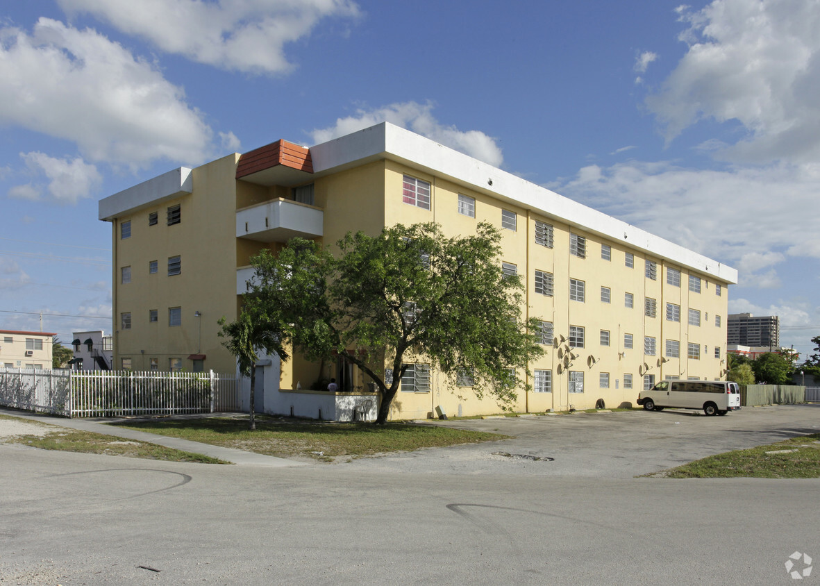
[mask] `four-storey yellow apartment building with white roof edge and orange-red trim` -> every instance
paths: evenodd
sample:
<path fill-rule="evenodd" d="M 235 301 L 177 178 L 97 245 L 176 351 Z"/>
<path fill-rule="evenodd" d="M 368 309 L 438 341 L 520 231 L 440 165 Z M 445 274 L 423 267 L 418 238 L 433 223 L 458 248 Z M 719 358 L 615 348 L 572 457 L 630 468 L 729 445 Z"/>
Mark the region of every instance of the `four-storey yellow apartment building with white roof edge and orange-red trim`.
<path fill-rule="evenodd" d="M 526 283 L 522 314 L 542 320 L 546 352 L 515 411 L 634 404 L 658 380 L 726 372 L 735 269 L 388 123 L 181 167 L 104 198 L 99 218 L 112 222 L 115 368 L 234 371 L 216 320 L 237 316 L 263 248 L 397 223 L 472 234 L 486 221 L 503 234 L 503 269 Z M 394 418 L 499 411 L 415 360 Z M 257 373 L 257 408 L 308 416 L 327 395 L 318 380 L 335 376 L 339 396 L 367 395 L 369 382 L 352 365 L 298 357 L 264 357 Z"/>

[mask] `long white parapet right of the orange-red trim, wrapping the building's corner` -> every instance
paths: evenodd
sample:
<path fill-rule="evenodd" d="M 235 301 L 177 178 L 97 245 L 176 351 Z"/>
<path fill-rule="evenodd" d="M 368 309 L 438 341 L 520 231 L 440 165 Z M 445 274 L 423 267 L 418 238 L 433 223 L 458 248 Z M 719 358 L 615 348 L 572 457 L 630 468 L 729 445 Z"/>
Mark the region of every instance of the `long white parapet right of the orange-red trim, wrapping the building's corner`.
<path fill-rule="evenodd" d="M 315 175 L 325 175 L 339 167 L 356 166 L 362 160 L 375 161 L 384 157 L 401 161 L 426 170 L 430 175 L 467 184 L 478 192 L 577 226 L 585 232 L 599 234 L 613 242 L 626 243 L 645 252 L 650 259 L 666 259 L 713 275 L 724 283 L 737 283 L 737 270 L 731 266 L 388 122 L 317 144 L 310 148 L 310 152 Z"/>

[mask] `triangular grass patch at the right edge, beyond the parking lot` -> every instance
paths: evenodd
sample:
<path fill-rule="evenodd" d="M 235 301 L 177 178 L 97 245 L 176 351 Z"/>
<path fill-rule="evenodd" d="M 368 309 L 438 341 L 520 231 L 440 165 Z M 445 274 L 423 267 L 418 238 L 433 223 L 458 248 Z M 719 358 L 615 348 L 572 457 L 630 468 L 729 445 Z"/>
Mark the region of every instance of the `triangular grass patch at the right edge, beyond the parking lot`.
<path fill-rule="evenodd" d="M 767 453 L 780 452 L 780 453 Z M 820 478 L 820 434 L 717 454 L 648 476 L 662 478 Z"/>

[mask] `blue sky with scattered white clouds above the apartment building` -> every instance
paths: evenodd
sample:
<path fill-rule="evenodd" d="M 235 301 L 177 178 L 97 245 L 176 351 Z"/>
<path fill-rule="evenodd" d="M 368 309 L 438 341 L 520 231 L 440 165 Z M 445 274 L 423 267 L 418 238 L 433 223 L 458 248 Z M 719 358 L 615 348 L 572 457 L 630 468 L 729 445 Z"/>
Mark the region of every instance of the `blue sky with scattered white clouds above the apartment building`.
<path fill-rule="evenodd" d="M 111 330 L 100 198 L 389 120 L 740 271 L 820 334 L 820 0 L 38 0 L 0 11 L 0 329 Z"/>

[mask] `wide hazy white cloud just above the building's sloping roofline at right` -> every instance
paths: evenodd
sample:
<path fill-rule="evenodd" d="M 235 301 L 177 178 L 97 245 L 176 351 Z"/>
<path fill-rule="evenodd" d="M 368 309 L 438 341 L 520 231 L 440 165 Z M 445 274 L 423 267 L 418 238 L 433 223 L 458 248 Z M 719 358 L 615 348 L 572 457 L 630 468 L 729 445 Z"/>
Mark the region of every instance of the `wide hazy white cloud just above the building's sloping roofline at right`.
<path fill-rule="evenodd" d="M 558 193 L 732 265 L 820 258 L 820 179 L 810 166 L 698 170 L 670 162 L 587 166 Z"/>

